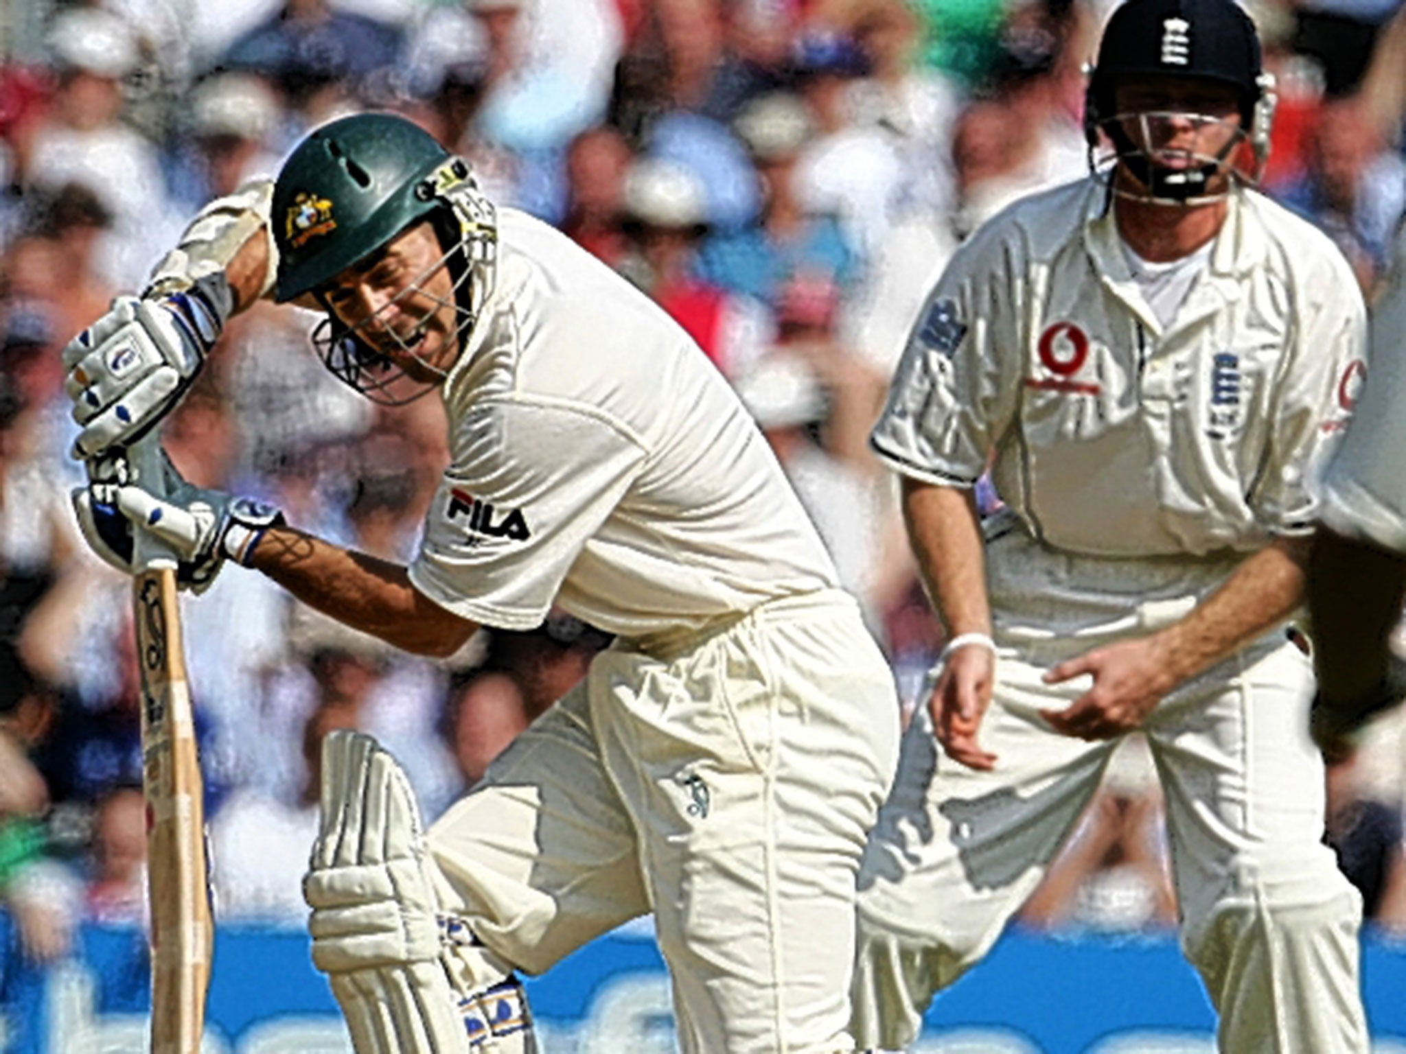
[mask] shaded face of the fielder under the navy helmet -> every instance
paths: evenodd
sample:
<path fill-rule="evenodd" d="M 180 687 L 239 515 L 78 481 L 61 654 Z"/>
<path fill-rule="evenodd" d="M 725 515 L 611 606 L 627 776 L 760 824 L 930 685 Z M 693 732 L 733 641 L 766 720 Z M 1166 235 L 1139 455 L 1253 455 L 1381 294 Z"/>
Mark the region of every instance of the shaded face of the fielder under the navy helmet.
<path fill-rule="evenodd" d="M 1147 77 L 1114 91 L 1115 118 L 1153 164 L 1222 163 L 1244 138 L 1234 89 L 1215 80 Z"/>

